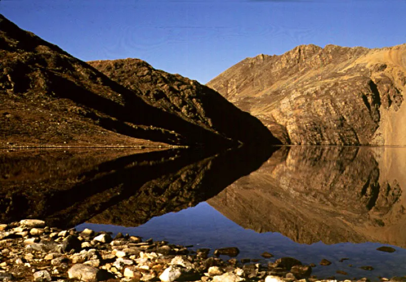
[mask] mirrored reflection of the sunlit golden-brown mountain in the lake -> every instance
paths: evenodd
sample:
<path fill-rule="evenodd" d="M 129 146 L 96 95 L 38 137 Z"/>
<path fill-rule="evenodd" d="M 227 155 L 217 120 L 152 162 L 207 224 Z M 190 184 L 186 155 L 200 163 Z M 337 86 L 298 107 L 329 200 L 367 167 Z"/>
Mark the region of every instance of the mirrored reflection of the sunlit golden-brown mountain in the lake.
<path fill-rule="evenodd" d="M 244 228 L 280 232 L 298 243 L 403 247 L 402 189 L 380 176 L 388 173 L 375 153 L 363 147 L 282 148 L 207 202 Z"/>

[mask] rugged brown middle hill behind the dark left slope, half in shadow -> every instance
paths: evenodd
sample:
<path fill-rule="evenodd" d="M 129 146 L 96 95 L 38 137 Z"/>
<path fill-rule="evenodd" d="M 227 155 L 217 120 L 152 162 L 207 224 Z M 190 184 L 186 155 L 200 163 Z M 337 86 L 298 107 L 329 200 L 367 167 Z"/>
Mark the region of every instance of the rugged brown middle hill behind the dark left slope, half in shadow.
<path fill-rule="evenodd" d="M 126 88 L 140 90 L 154 107 L 243 143 L 280 143 L 254 116 L 196 80 L 154 69 L 140 59 L 88 62 Z"/>

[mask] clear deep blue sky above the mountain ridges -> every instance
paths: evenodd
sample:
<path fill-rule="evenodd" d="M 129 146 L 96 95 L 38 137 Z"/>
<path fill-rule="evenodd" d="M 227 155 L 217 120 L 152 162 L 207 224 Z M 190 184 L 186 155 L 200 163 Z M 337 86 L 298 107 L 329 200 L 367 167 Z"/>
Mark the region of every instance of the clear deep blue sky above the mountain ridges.
<path fill-rule="evenodd" d="M 140 58 L 200 83 L 301 44 L 406 43 L 406 0 L 3 0 L 0 13 L 81 60 Z"/>

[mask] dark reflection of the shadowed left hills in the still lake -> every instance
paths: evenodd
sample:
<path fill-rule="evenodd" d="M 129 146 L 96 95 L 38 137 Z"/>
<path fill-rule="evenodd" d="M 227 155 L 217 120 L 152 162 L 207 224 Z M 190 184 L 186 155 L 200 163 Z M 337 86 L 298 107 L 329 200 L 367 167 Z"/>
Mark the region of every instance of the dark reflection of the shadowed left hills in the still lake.
<path fill-rule="evenodd" d="M 72 167 L 70 158 L 25 157 L 17 162 L 25 174 L 11 177 L 15 181 L 2 181 L 2 221 L 35 217 L 69 227 L 94 217 L 93 222 L 142 224 L 153 216 L 194 206 L 216 195 L 259 168 L 273 150 L 258 152 L 242 146 L 217 154 L 166 150 L 126 155 L 124 151 L 118 158 L 86 162 L 83 170 L 78 169 L 81 162 L 73 162 Z M 3 159 L 14 162 L 12 157 Z M 35 171 L 27 169 L 36 163 L 48 165 L 37 166 Z M 56 175 L 44 173 L 55 164 Z M 59 174 L 59 167 L 64 173 Z M 4 166 L 0 175 L 9 175 L 13 168 Z M 41 181 L 33 177 L 37 174 L 42 175 Z M 22 206 L 27 208 L 22 210 Z"/>

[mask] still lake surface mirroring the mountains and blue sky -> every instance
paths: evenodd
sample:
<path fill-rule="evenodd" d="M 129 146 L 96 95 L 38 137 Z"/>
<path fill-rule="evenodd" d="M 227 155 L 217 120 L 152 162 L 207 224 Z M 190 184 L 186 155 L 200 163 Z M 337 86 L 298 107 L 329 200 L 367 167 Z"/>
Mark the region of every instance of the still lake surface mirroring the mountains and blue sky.
<path fill-rule="evenodd" d="M 235 246 L 238 258 L 263 263 L 325 258 L 332 264 L 313 273 L 339 279 L 406 274 L 405 148 L 2 151 L 0 158 L 3 222 L 43 218 L 194 249 Z M 264 251 L 275 257 L 261 258 Z"/>

